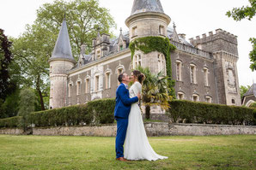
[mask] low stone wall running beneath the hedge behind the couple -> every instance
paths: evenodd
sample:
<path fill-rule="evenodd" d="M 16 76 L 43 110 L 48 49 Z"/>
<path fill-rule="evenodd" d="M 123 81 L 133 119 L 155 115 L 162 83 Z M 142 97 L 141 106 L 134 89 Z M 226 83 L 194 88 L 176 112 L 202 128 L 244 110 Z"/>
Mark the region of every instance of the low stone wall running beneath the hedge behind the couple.
<path fill-rule="evenodd" d="M 171 124 L 168 122 L 148 122 L 144 123 L 144 126 L 149 137 L 256 134 L 256 126 Z M 21 135 L 26 133 L 20 129 L 0 129 L 0 134 Z M 115 137 L 116 125 L 33 128 L 29 133 L 46 136 Z"/>

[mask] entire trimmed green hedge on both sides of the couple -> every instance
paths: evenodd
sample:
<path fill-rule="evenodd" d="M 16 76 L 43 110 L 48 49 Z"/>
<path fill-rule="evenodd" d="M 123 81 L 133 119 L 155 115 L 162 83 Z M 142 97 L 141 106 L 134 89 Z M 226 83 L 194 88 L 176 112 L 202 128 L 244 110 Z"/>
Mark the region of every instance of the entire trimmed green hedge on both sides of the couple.
<path fill-rule="evenodd" d="M 114 122 L 115 100 L 101 99 L 87 104 L 55 108 L 29 115 L 31 124 L 45 126 L 100 125 Z M 256 108 L 235 107 L 185 100 L 170 102 L 167 113 L 174 122 L 224 125 L 256 125 Z M 17 127 L 21 117 L 0 120 L 0 127 Z"/>

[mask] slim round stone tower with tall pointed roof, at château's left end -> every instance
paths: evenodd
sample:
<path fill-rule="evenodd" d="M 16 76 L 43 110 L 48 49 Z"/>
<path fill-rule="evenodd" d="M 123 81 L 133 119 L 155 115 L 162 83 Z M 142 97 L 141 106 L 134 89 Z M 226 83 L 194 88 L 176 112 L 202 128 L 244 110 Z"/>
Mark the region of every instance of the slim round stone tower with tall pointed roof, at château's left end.
<path fill-rule="evenodd" d="M 50 108 L 62 108 L 67 98 L 67 71 L 76 64 L 72 56 L 70 37 L 64 19 L 58 39 L 52 52 L 50 63 Z"/>

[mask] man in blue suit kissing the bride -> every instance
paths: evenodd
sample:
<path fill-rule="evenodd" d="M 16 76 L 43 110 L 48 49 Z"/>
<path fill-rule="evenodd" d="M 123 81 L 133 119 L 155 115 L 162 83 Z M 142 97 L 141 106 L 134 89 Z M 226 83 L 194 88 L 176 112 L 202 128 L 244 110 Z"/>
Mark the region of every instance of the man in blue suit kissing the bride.
<path fill-rule="evenodd" d="M 131 110 L 131 104 L 137 103 L 140 98 L 140 94 L 138 94 L 137 97 L 129 97 L 129 91 L 127 88 L 130 79 L 126 73 L 121 73 L 118 79 L 121 84 L 116 91 L 116 105 L 114 108 L 114 117 L 118 123 L 116 136 L 116 159 L 119 161 L 126 161 L 124 158 L 123 146 L 128 126 L 128 115 Z"/>

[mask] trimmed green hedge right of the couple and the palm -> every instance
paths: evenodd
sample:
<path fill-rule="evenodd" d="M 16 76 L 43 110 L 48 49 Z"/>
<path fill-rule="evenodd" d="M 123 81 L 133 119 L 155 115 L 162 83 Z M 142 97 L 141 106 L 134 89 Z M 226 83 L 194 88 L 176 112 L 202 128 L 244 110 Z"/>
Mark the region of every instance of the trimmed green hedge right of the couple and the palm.
<path fill-rule="evenodd" d="M 256 109 L 174 100 L 168 116 L 174 122 L 256 125 Z"/>

